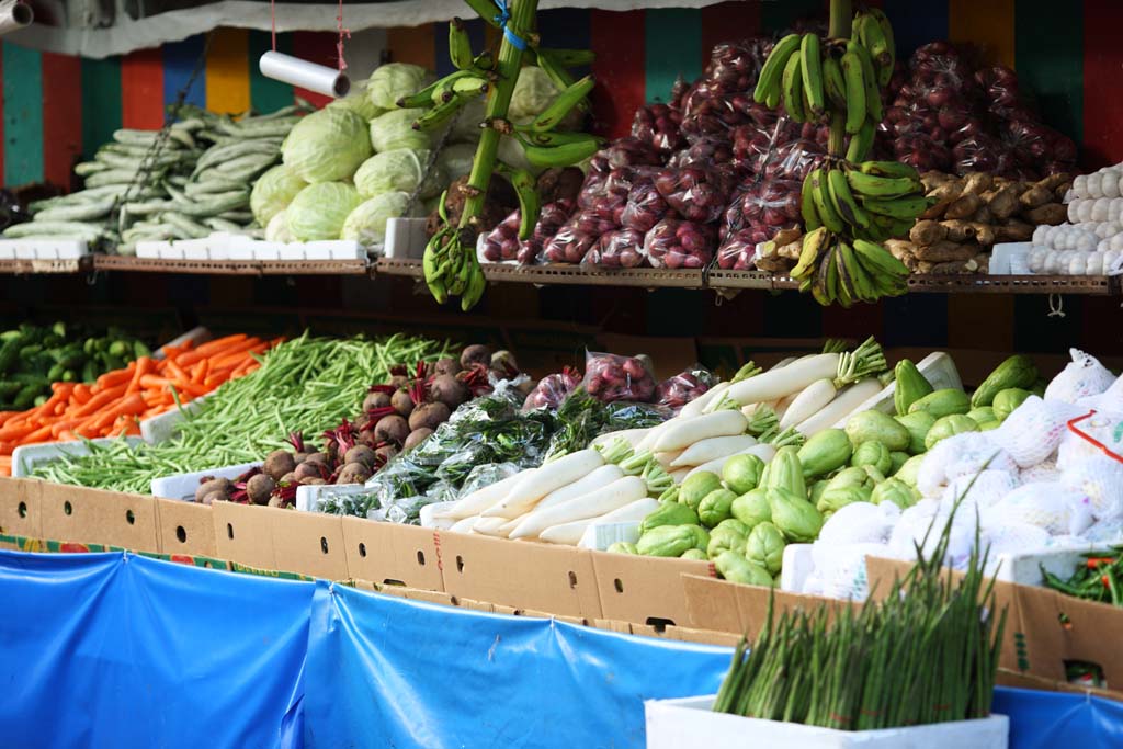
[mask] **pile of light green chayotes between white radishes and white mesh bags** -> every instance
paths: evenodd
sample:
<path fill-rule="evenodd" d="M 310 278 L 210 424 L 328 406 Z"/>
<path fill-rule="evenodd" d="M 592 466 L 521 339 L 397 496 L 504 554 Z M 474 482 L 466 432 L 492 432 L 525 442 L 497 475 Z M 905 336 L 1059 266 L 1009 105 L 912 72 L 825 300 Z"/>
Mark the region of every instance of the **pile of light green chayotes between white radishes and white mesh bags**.
<path fill-rule="evenodd" d="M 909 359 L 893 374 L 895 415 L 860 411 L 843 429 L 822 429 L 798 448 L 778 449 L 767 464 L 742 454 L 725 459 L 720 475 L 692 472 L 640 523 L 638 542 L 609 550 L 710 559 L 725 579 L 778 583 L 787 544 L 814 541 L 848 504 L 912 506 L 921 499 L 916 475 L 929 449 L 953 435 L 998 427 L 1044 387 L 1025 356 L 1010 357 L 971 396 L 934 390 Z"/>

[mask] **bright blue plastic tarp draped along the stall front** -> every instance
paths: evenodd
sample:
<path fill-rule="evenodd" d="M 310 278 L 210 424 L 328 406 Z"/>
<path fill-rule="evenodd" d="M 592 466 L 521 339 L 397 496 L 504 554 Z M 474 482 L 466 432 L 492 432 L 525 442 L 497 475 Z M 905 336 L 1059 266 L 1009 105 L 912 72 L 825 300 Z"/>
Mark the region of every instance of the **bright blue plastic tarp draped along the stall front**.
<path fill-rule="evenodd" d="M 131 554 L 0 551 L 0 743 L 643 747 L 729 650 Z M 999 689 L 1011 746 L 1123 745 L 1123 705 Z"/>

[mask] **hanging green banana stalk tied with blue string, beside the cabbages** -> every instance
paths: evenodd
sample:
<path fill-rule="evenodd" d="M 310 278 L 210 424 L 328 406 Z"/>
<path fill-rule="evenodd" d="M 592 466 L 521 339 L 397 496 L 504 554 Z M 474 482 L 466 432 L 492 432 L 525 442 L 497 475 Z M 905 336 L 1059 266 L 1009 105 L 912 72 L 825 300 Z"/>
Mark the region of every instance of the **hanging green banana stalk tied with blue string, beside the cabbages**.
<path fill-rule="evenodd" d="M 472 99 L 486 95 L 487 106 L 483 133 L 472 164 L 468 183 L 464 188 L 465 202 L 460 221 L 448 221 L 445 198 L 441 195 L 440 228 L 426 247 L 424 280 L 433 299 L 444 303 L 449 296 L 460 298 L 460 309 L 475 307 L 483 295 L 486 281 L 476 259 L 476 238 L 482 227 L 487 188 L 492 173 L 500 171 L 510 180 L 519 197 L 521 223 L 519 237 L 528 238 L 538 221 L 540 199 L 532 174 L 508 168 L 496 162 L 499 139 L 513 137 L 522 145 L 527 161 L 533 166 L 570 166 L 595 154 L 601 140 L 587 133 L 559 133 L 557 126 L 575 108 L 587 107 L 586 99 L 593 80 L 585 76 L 574 80 L 568 67 L 588 65 L 593 53 L 582 49 L 544 49 L 539 47 L 535 16 L 538 0 L 466 0 L 481 18 L 503 30 L 499 54 L 473 54 L 467 28 L 460 19 L 453 19 L 448 27 L 448 51 L 457 68 L 421 91 L 403 98 L 399 107 L 424 108 L 413 128 L 431 130 L 447 126 L 456 113 Z M 508 119 L 508 108 L 514 91 L 523 57 L 537 61 L 562 91 L 555 101 L 533 121 L 514 126 Z"/>

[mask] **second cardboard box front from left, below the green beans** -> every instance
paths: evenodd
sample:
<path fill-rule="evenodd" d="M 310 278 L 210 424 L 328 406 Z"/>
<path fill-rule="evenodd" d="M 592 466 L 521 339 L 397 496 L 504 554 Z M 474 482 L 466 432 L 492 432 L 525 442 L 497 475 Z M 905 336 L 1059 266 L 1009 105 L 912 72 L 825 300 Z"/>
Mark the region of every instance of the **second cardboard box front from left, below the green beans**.
<path fill-rule="evenodd" d="M 43 537 L 159 551 L 156 500 L 43 482 Z"/>

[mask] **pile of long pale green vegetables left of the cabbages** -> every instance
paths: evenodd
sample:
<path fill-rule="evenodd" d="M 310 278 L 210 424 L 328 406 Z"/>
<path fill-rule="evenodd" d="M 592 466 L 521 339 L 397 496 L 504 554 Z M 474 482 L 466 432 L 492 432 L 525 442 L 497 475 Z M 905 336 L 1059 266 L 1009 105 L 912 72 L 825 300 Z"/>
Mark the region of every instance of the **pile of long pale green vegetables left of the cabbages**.
<path fill-rule="evenodd" d="M 121 129 L 93 161 L 74 167 L 85 189 L 31 203 L 33 220 L 7 238 L 73 238 L 101 241 L 121 255 L 138 241 L 198 239 L 213 231 L 257 236 L 249 210 L 254 181 L 281 159 L 281 141 L 311 106 L 300 102 L 237 121 L 195 107 L 150 153 L 159 134 Z M 150 167 L 137 185 L 141 170 Z"/>

